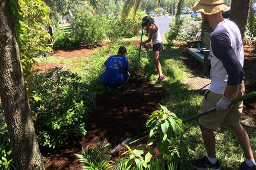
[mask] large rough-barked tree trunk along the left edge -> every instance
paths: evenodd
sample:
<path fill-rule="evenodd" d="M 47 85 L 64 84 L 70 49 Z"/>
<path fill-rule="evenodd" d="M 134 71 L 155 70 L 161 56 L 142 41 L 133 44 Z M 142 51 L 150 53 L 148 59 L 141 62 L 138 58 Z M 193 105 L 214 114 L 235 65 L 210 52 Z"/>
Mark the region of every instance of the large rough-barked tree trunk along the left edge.
<path fill-rule="evenodd" d="M 0 96 L 17 170 L 42 170 L 8 0 L 0 0 Z"/>

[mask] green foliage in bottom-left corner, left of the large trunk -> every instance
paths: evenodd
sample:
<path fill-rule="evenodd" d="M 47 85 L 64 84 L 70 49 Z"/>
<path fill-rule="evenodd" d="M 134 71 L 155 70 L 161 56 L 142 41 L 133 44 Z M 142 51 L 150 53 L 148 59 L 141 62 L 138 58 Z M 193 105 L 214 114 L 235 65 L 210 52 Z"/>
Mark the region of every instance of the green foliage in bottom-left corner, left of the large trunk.
<path fill-rule="evenodd" d="M 11 154 L 10 139 L 4 121 L 4 111 L 0 103 L 0 169 L 8 170 L 12 167 L 14 167 L 14 161 Z"/>

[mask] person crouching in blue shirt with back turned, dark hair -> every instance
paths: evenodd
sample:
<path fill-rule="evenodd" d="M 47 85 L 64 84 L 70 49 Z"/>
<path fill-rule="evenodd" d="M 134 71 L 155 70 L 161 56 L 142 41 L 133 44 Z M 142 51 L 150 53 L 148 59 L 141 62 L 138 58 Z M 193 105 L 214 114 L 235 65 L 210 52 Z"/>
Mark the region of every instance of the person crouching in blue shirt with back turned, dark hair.
<path fill-rule="evenodd" d="M 121 88 L 129 79 L 129 64 L 128 59 L 125 57 L 126 48 L 120 47 L 118 55 L 110 56 L 104 62 L 106 70 L 100 76 L 101 82 L 107 87 Z"/>

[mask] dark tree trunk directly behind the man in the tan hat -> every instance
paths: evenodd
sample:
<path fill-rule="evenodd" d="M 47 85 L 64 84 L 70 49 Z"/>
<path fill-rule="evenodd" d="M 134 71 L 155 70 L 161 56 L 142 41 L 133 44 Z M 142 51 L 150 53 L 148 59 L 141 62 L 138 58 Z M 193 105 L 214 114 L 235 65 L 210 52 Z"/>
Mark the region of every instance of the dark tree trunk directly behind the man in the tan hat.
<path fill-rule="evenodd" d="M 232 0 L 231 2 L 231 11 L 230 11 L 230 20 L 234 21 L 241 32 L 242 40 L 245 36 L 246 25 L 249 15 L 251 0 Z"/>

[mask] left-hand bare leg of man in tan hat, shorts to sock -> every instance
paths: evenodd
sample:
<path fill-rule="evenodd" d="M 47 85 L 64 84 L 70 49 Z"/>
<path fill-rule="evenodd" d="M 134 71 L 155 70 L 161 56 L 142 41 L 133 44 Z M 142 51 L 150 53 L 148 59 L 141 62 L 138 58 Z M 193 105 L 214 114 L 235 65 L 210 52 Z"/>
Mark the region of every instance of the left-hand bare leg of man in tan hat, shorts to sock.
<path fill-rule="evenodd" d="M 204 146 L 207 151 L 207 155 L 211 158 L 216 158 L 216 151 L 215 151 L 215 136 L 213 133 L 213 130 L 205 128 L 200 125 L 203 140 L 204 140 Z"/>

